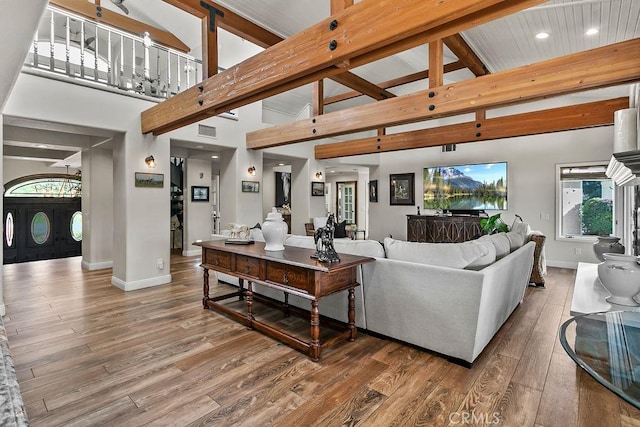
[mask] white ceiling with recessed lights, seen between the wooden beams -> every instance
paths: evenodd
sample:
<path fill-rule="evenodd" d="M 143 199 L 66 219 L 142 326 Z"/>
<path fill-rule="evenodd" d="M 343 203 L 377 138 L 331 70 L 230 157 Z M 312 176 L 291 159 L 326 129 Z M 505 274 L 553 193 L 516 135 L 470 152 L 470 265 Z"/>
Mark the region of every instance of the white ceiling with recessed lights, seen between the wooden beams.
<path fill-rule="evenodd" d="M 289 37 L 327 18 L 330 4 L 329 0 L 214 1 L 282 37 Z M 24 6 L 25 3 L 29 3 L 29 7 Z M 201 39 L 198 31 L 200 26 L 193 16 L 168 5 L 163 0 L 125 0 L 125 4 L 130 10 L 129 16 L 131 18 L 173 32 L 192 47 L 194 56 L 201 56 L 199 54 Z M 18 52 L 21 53 L 19 55 L 15 52 L 9 55 L 8 46 L 22 46 L 22 49 L 26 49 L 25 46 L 28 46 L 33 34 L 29 28 L 35 29 L 37 26 L 37 20 L 35 26 L 32 21 L 39 12 L 37 5 L 33 7 L 32 5 L 36 5 L 33 0 L 29 2 L 0 0 L 0 35 L 3 35 L 5 40 L 12 40 L 12 43 L 5 43 L 4 47 L 0 47 L 0 55 L 3 57 L 0 64 L 0 106 L 3 105 L 8 92 L 8 90 L 5 92 L 2 89 L 7 86 L 7 82 L 15 80 L 22 62 L 22 59 L 18 58 L 24 58 L 24 54 L 21 52 Z M 103 0 L 102 6 L 121 13 L 108 0 Z M 590 28 L 597 28 L 599 32 L 588 36 L 585 33 Z M 549 33 L 549 38 L 536 39 L 535 34 L 540 31 Z M 462 36 L 489 71 L 499 72 L 640 37 L 640 0 L 551 0 L 541 6 L 467 30 L 462 33 Z M 230 67 L 260 50 L 251 43 L 239 40 L 224 31 L 220 31 L 219 44 L 219 62 L 224 67 Z M 13 66 L 7 66 L 8 61 L 5 60 L 7 58 L 12 58 L 14 63 L 9 65 Z M 455 59 L 455 56 L 445 49 L 445 63 Z M 17 65 L 15 61 L 18 61 Z M 423 71 L 428 68 L 427 63 L 428 47 L 420 46 L 351 71 L 373 83 L 380 83 L 395 77 Z M 473 78 L 473 75 L 468 70 L 461 70 L 446 74 L 445 83 L 469 78 Z M 390 91 L 402 95 L 424 89 L 426 85 L 426 82 L 417 82 L 393 88 Z M 332 81 L 325 81 L 325 96 L 327 97 L 348 90 Z M 2 98 L 2 94 L 5 99 Z M 591 96 L 600 99 L 627 94 L 626 87 L 590 93 Z M 264 100 L 264 106 L 288 114 L 293 120 L 310 102 L 311 88 L 305 86 Z M 375 101 L 361 96 L 327 106 L 326 111 L 369 102 Z M 30 126 L 33 123 L 26 125 Z M 9 128 L 5 125 L 5 133 L 9 129 L 9 134 L 15 135 L 18 133 L 18 129 L 15 128 L 21 125 L 10 123 L 8 126 Z M 68 132 L 68 129 L 54 129 L 54 131 L 65 133 Z M 88 132 L 86 135 L 89 137 L 89 145 L 95 143 L 91 138 L 96 135 L 93 135 L 92 132 Z M 38 137 L 41 139 L 41 135 Z M 52 138 L 57 139 L 56 136 Z M 7 152 L 18 153 L 20 150 L 29 148 L 25 147 L 28 145 L 26 139 L 26 137 L 17 136 L 10 138 L 8 142 L 5 142 L 5 154 Z M 41 143 L 40 140 L 34 140 L 33 147 Z M 52 154 L 51 150 L 56 150 L 53 147 L 58 147 L 58 144 L 55 143 L 50 145 L 52 148 L 43 152 L 43 157 L 48 158 Z M 204 157 L 207 154 L 206 152 L 198 152 L 198 149 L 194 150 L 194 147 L 190 147 L 189 143 L 185 141 L 176 141 L 175 145 L 172 147 L 172 152 L 183 152 L 190 149 L 196 156 Z M 33 147 L 31 147 L 32 154 L 35 153 Z M 72 147 L 60 146 L 60 155 L 76 148 L 82 149 L 75 145 Z"/>

